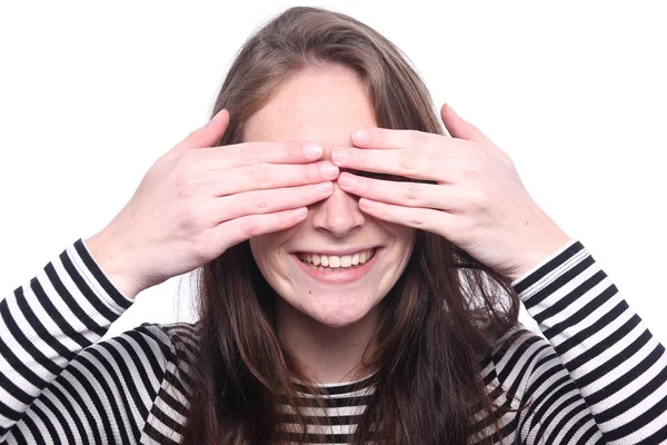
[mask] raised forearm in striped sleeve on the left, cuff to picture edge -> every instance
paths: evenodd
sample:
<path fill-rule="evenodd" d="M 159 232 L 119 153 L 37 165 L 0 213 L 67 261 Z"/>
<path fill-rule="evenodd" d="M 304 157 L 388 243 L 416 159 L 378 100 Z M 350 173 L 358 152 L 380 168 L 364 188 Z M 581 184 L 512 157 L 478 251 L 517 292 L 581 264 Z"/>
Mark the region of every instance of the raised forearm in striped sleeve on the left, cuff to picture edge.
<path fill-rule="evenodd" d="M 81 240 L 0 301 L 0 441 L 41 390 L 131 303 Z"/>

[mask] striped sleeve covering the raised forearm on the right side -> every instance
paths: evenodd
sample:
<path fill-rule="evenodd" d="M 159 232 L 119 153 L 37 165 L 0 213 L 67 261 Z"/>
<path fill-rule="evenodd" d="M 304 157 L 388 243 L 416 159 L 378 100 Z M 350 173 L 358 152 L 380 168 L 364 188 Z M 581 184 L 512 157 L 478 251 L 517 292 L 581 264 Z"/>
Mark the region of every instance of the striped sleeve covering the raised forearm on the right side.
<path fill-rule="evenodd" d="M 578 240 L 512 283 L 609 444 L 667 441 L 667 355 Z"/>

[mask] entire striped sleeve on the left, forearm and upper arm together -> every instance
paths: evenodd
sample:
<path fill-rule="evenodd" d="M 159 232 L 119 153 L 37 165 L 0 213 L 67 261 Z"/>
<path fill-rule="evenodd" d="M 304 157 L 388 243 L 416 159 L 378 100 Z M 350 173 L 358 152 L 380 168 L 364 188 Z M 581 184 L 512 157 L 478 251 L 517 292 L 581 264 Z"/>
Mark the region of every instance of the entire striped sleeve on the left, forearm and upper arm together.
<path fill-rule="evenodd" d="M 0 442 L 138 434 L 142 403 L 160 386 L 163 346 L 142 328 L 98 343 L 131 304 L 82 239 L 0 301 Z"/>

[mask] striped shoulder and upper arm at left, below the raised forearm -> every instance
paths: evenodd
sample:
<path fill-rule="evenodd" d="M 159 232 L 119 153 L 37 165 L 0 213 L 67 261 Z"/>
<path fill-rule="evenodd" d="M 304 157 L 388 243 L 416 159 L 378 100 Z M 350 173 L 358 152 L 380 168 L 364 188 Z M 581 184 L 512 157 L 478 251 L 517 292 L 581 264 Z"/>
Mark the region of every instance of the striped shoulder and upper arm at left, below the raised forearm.
<path fill-rule="evenodd" d="M 138 442 L 176 443 L 172 436 L 187 415 L 191 394 L 189 376 L 179 373 L 179 365 L 190 354 L 197 332 L 196 324 L 143 323 L 99 340 L 72 359 L 44 397 L 58 397 L 64 406 L 97 409 L 99 414 L 86 417 L 91 424 L 97 415 L 111 429 L 131 429 L 141 437 Z M 117 442 L 130 437 L 118 434 Z"/>

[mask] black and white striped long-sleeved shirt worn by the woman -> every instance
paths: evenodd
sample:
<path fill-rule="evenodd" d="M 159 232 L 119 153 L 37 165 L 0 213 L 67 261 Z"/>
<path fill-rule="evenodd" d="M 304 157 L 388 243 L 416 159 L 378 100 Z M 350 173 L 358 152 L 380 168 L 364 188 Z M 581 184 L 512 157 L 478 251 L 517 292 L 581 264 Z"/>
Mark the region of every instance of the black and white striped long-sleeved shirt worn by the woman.
<path fill-rule="evenodd" d="M 500 417 L 502 443 L 667 442 L 665 348 L 581 243 L 511 285 L 542 335 L 517 326 L 481 363 L 495 403 L 522 407 Z M 176 356 L 197 330 L 145 323 L 100 340 L 132 301 L 82 239 L 0 301 L 0 442 L 179 443 L 190 380 Z M 327 443 L 344 444 L 365 405 L 347 384 L 327 388 Z"/>

